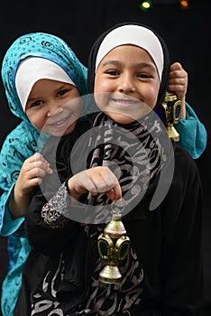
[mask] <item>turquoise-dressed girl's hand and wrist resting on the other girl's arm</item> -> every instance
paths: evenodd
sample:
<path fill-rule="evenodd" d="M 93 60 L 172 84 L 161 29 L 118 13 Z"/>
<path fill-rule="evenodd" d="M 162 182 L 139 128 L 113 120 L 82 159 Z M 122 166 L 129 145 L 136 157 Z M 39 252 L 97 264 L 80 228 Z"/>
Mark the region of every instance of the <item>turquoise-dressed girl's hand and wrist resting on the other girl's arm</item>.
<path fill-rule="evenodd" d="M 25 215 L 30 203 L 30 192 L 33 187 L 41 184 L 41 179 L 46 173 L 52 173 L 49 163 L 41 153 L 34 153 L 26 159 L 14 185 L 14 195 L 9 203 L 9 210 L 13 218 Z"/>

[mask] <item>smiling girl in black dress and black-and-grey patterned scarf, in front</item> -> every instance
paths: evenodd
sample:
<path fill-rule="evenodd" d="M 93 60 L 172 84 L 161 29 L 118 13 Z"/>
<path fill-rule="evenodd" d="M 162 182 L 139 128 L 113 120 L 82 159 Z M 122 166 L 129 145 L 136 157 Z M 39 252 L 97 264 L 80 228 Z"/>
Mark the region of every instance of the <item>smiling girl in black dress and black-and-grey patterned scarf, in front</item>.
<path fill-rule="evenodd" d="M 164 98 L 169 70 L 165 43 L 142 24 L 118 24 L 95 42 L 88 86 L 103 112 L 96 115 L 95 128 L 77 151 L 77 158 L 80 152 L 83 157 L 82 149 L 91 146 L 84 158 L 87 171 L 72 176 L 74 155 L 69 160 L 61 153 L 63 142 L 69 154 L 67 137 L 61 140 L 57 158 L 61 165 L 69 162 L 68 177 L 49 200 L 55 173 L 47 175 L 26 215 L 30 243 L 50 256 L 31 295 L 32 315 L 201 314 L 197 166 L 179 145 L 170 143 L 154 115 Z M 82 158 L 78 163 L 82 169 Z M 121 185 L 124 227 L 131 243 L 119 266 L 118 283 L 99 280 L 105 263 L 97 252 L 97 237 L 114 211 L 111 201 L 121 198 L 116 182 L 110 191 L 107 167 Z M 98 181 L 100 170 L 105 176 Z M 90 172 L 95 172 L 94 183 L 87 181 Z M 155 198 L 158 191 L 162 197 Z"/>

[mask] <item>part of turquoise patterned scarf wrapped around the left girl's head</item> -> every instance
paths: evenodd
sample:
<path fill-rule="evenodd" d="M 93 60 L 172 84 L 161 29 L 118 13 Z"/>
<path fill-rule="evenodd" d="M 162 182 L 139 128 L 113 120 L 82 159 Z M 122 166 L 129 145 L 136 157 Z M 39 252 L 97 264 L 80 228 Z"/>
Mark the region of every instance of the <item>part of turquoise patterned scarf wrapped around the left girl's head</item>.
<path fill-rule="evenodd" d="M 76 84 L 79 94 L 81 96 L 87 94 L 87 69 L 81 64 L 68 44 L 55 35 L 28 33 L 14 41 L 6 51 L 2 64 L 5 95 L 14 116 L 28 121 L 14 84 L 17 68 L 20 62 L 27 57 L 41 57 L 57 63 Z"/>

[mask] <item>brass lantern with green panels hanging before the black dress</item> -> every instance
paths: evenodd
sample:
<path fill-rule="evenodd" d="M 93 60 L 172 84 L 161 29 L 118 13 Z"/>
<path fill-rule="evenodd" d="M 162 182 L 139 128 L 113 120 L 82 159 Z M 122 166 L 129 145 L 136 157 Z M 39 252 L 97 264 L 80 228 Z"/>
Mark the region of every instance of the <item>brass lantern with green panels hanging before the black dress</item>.
<path fill-rule="evenodd" d="M 122 215 L 113 212 L 111 221 L 106 225 L 97 240 L 99 256 L 105 261 L 105 267 L 99 274 L 102 283 L 120 283 L 122 274 L 118 266 L 124 261 L 130 247 L 130 238 L 122 222 Z"/>

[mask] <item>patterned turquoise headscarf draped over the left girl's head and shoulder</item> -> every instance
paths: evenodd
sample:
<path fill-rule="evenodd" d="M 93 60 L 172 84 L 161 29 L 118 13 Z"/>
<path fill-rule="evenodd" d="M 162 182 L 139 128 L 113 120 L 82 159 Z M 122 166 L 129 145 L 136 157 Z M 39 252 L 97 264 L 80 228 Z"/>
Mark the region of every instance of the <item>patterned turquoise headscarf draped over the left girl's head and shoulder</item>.
<path fill-rule="evenodd" d="M 55 35 L 48 33 L 27 33 L 13 42 L 5 53 L 2 63 L 2 79 L 8 105 L 14 116 L 22 119 L 7 135 L 0 155 L 0 187 L 8 191 L 16 181 L 23 161 L 38 151 L 38 131 L 23 112 L 15 88 L 15 74 L 22 60 L 40 57 L 51 60 L 67 72 L 81 96 L 87 94 L 87 69 L 78 60 L 69 45 Z M 43 142 L 49 135 L 43 135 Z M 39 144 L 43 144 L 40 142 Z M 41 148 L 40 148 L 41 150 Z"/>

